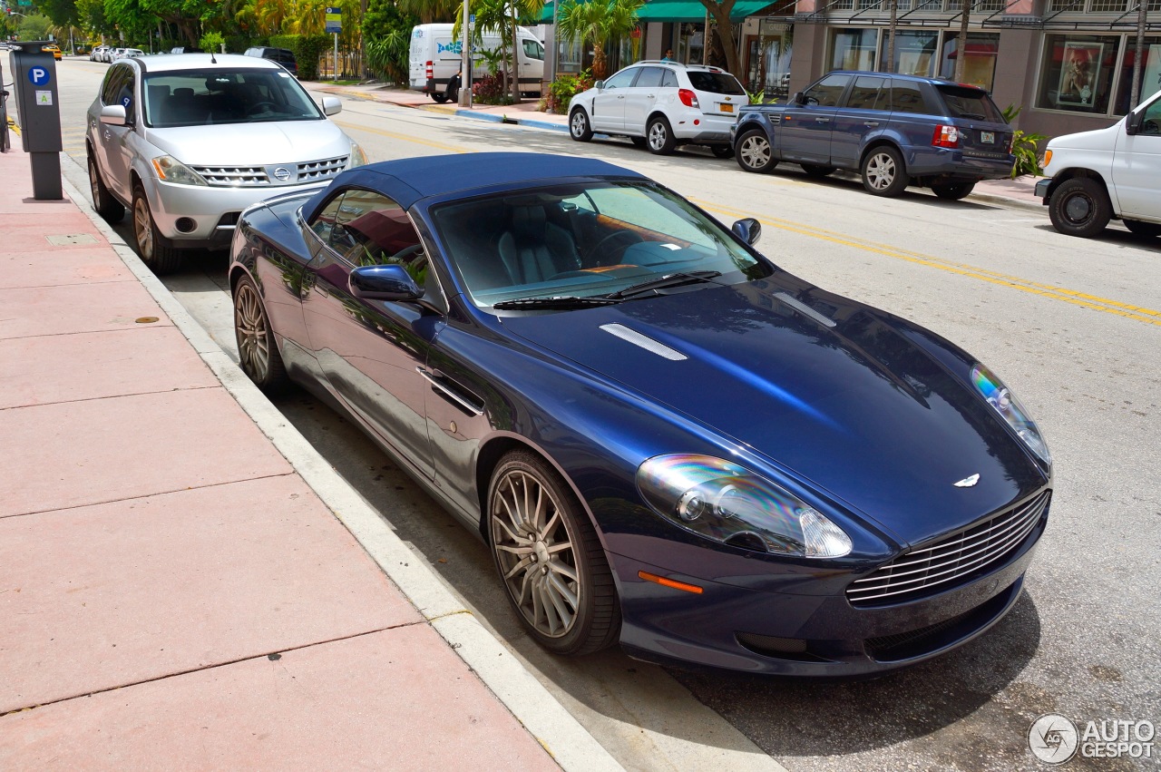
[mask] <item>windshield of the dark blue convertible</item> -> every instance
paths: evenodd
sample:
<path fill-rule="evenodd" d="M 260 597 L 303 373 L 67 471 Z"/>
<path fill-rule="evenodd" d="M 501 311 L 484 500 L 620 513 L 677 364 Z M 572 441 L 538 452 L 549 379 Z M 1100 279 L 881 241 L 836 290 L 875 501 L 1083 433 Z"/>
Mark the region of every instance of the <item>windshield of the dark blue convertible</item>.
<path fill-rule="evenodd" d="M 514 308 L 513 301 L 605 298 L 661 277 L 678 280 L 610 301 L 615 302 L 669 287 L 690 291 L 708 281 L 760 279 L 773 269 L 652 182 L 502 193 L 439 205 L 433 219 L 471 301 L 484 309 Z"/>

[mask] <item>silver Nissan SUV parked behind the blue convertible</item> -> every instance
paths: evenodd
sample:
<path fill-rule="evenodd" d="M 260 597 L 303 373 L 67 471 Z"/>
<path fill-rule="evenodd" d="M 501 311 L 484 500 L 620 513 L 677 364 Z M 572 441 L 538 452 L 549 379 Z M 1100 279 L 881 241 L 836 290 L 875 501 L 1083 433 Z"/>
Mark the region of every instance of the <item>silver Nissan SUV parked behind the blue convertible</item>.
<path fill-rule="evenodd" d="M 109 67 L 88 108 L 93 207 L 132 211 L 142 259 L 175 269 L 182 251 L 225 248 L 238 215 L 280 193 L 322 188 L 367 161 L 294 75 L 224 53 L 132 57 Z"/>

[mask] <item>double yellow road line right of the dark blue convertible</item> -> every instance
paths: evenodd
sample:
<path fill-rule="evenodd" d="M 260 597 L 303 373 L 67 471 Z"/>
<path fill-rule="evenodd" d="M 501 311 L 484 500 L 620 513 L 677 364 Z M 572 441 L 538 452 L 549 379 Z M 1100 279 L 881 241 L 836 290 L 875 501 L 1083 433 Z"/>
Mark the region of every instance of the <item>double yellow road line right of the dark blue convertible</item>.
<path fill-rule="evenodd" d="M 728 207 L 721 207 L 719 204 L 713 204 L 706 201 L 697 201 L 697 200 L 693 201 L 699 207 L 706 209 L 707 211 L 726 215 L 727 217 L 752 216 L 750 212 L 744 212 L 737 209 L 730 209 Z M 873 252 L 875 254 L 881 254 L 884 257 L 893 258 L 895 260 L 903 260 L 906 262 L 926 266 L 929 268 L 946 270 L 949 273 L 959 274 L 960 276 L 968 276 L 971 279 L 978 279 L 979 281 L 986 281 L 993 284 L 998 284 L 1001 287 L 1008 287 L 1009 289 L 1016 289 L 1022 293 L 1039 295 L 1048 300 L 1060 301 L 1062 303 L 1072 303 L 1073 305 L 1080 305 L 1082 308 L 1091 309 L 1094 311 L 1101 311 L 1102 313 L 1111 313 L 1113 316 L 1124 317 L 1126 319 L 1133 319 L 1134 322 L 1144 322 L 1145 324 L 1155 324 L 1161 326 L 1161 311 L 1142 308 L 1140 305 L 1133 305 L 1131 303 L 1120 303 L 1118 301 L 1109 300 L 1108 297 L 1088 295 L 1086 293 L 1079 293 L 1076 290 L 1067 289 L 1065 287 L 1040 284 L 1038 282 L 1027 281 L 1018 276 L 1010 276 L 1008 274 L 1003 274 L 996 270 L 988 270 L 987 268 L 980 268 L 978 266 L 971 266 L 964 262 L 953 262 L 951 260 L 943 260 L 940 258 L 936 258 L 930 254 L 924 254 L 922 252 L 911 252 L 910 250 L 900 250 L 897 247 L 889 246 L 887 244 L 865 241 L 861 239 L 856 239 L 854 237 L 848 236 L 845 233 L 828 231 L 821 228 L 809 228 L 802 225 L 801 223 L 795 223 L 788 219 L 780 219 L 778 217 L 765 216 L 760 217 L 759 221 L 764 226 L 778 228 L 780 230 L 791 231 L 793 233 L 801 233 L 802 236 L 821 239 L 823 241 L 830 241 L 831 244 L 849 246 L 856 250 L 861 250 L 864 252 Z"/>

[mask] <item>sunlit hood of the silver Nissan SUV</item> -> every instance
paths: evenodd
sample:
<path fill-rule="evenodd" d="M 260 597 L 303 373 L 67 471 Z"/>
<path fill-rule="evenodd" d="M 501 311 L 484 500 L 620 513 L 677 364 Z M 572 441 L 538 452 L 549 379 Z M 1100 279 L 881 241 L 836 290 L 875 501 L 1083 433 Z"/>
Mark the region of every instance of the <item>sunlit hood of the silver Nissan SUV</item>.
<path fill-rule="evenodd" d="M 194 166 L 295 164 L 351 152 L 346 135 L 330 121 L 150 129 L 146 138 L 182 164 Z"/>

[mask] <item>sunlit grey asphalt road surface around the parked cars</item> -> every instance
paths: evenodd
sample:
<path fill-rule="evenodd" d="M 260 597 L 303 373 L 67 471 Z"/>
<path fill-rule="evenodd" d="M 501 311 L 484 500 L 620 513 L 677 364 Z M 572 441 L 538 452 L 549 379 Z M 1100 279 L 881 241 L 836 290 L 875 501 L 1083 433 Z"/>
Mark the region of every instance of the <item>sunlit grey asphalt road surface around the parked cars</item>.
<path fill-rule="evenodd" d="M 66 152 L 80 165 L 84 110 L 104 68 L 58 65 Z M 1161 551 L 1153 542 L 1161 531 L 1161 240 L 1116 226 L 1074 239 L 1053 231 L 1044 212 L 944 202 L 918 189 L 882 200 L 854 182 L 807 180 L 796 167 L 752 175 L 700 151 L 655 157 L 622 140 L 582 145 L 563 132 L 366 101 L 344 100 L 336 121 L 372 160 L 583 154 L 648 174 L 724 222 L 757 217 L 759 248 L 783 267 L 973 352 L 1047 435 L 1052 517 L 1012 613 L 935 662 L 872 681 L 817 684 L 662 670 L 618 651 L 545 655 L 521 633 L 475 537 L 330 410 L 305 395 L 279 403 L 628 769 L 772 769 L 772 758 L 795 772 L 1034 770 L 1041 765 L 1026 734 L 1044 713 L 1082 730 L 1090 720 L 1161 723 Z M 66 173 L 84 183 L 79 167 L 66 164 Z M 200 254 L 166 283 L 230 349 L 224 267 L 221 253 Z M 1077 757 L 1067 769 L 1158 769 L 1159 753 Z"/>

